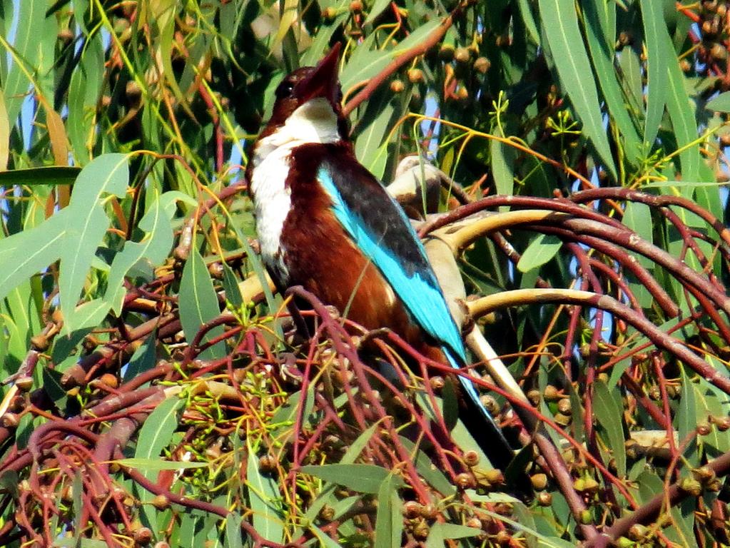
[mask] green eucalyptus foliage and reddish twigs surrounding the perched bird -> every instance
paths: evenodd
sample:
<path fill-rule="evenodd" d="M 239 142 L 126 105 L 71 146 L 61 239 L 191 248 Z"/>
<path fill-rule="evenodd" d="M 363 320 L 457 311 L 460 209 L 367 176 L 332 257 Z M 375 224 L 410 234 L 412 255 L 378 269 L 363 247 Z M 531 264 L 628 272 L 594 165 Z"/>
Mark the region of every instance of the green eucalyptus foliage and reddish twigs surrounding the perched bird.
<path fill-rule="evenodd" d="M 0 545 L 728 544 L 729 35 L 716 0 L 0 2 Z M 445 368 L 299 291 L 302 341 L 255 254 L 250 144 L 335 42 L 529 500 Z"/>

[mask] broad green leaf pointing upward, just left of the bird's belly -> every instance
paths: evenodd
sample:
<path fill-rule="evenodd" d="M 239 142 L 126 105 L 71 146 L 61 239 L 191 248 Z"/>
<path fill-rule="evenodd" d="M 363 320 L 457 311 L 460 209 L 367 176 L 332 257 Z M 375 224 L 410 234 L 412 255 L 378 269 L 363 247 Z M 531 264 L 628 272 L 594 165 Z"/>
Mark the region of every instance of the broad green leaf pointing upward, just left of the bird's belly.
<path fill-rule="evenodd" d="M 218 297 L 213 289 L 213 282 L 208 274 L 205 261 L 198 250 L 193 247 L 183 268 L 183 279 L 180 280 L 180 323 L 183 324 L 183 333 L 188 344 L 192 344 L 202 325 L 218 317 Z M 205 334 L 201 343 L 210 341 L 223 328 L 218 326 Z M 201 359 L 210 360 L 223 358 L 226 355 L 226 344 L 220 342 L 200 353 Z"/>

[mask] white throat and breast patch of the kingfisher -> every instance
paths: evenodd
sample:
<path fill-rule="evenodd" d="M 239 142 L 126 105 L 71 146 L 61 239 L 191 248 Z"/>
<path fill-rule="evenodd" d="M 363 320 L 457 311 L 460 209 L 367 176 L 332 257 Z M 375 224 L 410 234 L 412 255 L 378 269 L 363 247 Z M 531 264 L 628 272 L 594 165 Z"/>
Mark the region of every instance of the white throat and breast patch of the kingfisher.
<path fill-rule="evenodd" d="M 291 208 L 291 189 L 285 185 L 291 150 L 307 143 L 334 143 L 340 140 L 337 114 L 327 99 L 307 101 L 287 118 L 274 133 L 259 140 L 253 151 L 253 191 L 256 232 L 261 257 L 282 282 L 288 275 L 280 249 L 281 233 Z"/>

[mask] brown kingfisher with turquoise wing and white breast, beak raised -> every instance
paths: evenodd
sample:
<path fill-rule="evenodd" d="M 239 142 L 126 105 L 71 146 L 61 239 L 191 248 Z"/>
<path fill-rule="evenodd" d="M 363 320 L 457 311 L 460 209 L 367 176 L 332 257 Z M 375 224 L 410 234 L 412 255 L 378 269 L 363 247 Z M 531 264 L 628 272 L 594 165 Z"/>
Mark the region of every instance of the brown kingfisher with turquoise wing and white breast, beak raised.
<path fill-rule="evenodd" d="M 280 293 L 302 286 L 367 329 L 388 328 L 456 369 L 466 350 L 426 251 L 403 209 L 356 158 L 342 115 L 339 43 L 275 90 L 245 172 L 261 258 Z M 458 376 L 465 425 L 496 468 L 512 449 Z M 470 426 L 471 425 L 471 426 Z"/>

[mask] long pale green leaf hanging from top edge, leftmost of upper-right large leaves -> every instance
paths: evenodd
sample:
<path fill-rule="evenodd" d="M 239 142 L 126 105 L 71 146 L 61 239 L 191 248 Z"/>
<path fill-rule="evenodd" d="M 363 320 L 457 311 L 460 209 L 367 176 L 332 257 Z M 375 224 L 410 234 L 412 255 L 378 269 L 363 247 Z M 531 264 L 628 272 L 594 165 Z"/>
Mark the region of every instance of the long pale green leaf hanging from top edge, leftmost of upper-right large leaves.
<path fill-rule="evenodd" d="M 539 0 L 538 4 L 545 38 L 561 84 L 570 98 L 575 114 L 583 123 L 583 133 L 615 179 L 616 168 L 603 127 L 598 91 L 589 76 L 593 72 L 583 46 L 583 36 L 578 28 L 575 5 L 564 0 Z"/>

